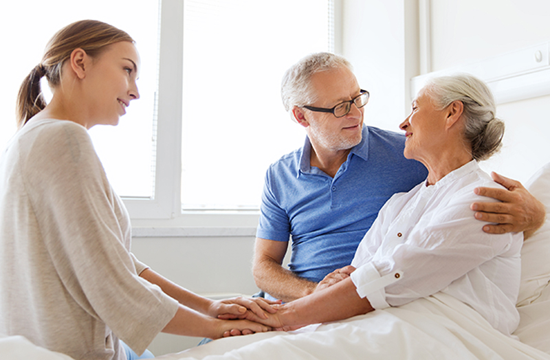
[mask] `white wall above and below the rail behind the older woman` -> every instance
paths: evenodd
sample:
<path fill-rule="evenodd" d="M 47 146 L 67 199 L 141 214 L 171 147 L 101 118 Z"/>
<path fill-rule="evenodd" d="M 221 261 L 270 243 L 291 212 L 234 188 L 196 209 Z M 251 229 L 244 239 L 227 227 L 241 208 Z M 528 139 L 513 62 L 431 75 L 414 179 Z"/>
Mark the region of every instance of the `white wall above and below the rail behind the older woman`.
<path fill-rule="evenodd" d="M 430 18 L 432 71 L 550 41 L 547 0 L 432 0 Z M 498 105 L 503 150 L 481 166 L 525 183 L 550 161 L 549 107 L 549 95 Z"/>

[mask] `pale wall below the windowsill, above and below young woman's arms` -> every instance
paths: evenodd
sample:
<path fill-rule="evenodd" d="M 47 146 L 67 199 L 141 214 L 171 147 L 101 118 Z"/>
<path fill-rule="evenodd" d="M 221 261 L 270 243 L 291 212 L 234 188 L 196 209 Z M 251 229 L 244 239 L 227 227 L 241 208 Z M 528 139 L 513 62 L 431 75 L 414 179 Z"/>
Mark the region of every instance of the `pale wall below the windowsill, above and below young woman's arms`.
<path fill-rule="evenodd" d="M 202 295 L 252 295 L 252 236 L 134 237 L 137 258 L 186 289 Z M 155 355 L 179 352 L 201 339 L 159 334 L 148 347 Z"/>

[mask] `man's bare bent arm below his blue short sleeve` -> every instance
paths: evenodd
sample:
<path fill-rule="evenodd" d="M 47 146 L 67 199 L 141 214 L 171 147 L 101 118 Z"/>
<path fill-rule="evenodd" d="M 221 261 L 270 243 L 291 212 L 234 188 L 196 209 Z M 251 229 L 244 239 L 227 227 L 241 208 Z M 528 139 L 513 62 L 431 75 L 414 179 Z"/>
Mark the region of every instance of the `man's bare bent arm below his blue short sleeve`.
<path fill-rule="evenodd" d="M 282 267 L 287 252 L 285 241 L 256 238 L 252 273 L 256 285 L 284 302 L 296 300 L 313 293 L 317 283 L 294 275 Z"/>

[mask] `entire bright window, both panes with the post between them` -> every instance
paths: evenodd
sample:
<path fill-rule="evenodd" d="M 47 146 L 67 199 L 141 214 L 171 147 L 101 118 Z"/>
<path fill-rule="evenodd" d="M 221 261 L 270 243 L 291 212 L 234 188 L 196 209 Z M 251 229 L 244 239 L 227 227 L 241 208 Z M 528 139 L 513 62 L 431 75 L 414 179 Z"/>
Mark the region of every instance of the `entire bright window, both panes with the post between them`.
<path fill-rule="evenodd" d="M 131 217 L 147 224 L 181 218 L 182 207 L 257 209 L 267 166 L 304 140 L 283 109 L 281 78 L 299 58 L 332 50 L 332 4 L 98 0 L 82 8 L 69 0 L 47 7 L 10 1 L 3 5 L 10 22 L 0 31 L 17 36 L 5 37 L 10 56 L 0 58 L 10 69 L 0 89 L 0 147 L 15 131 L 19 85 L 50 37 L 73 21 L 98 19 L 135 38 L 142 57 L 141 99 L 118 126 L 90 131 Z M 186 214 L 185 221 L 193 218 Z"/>

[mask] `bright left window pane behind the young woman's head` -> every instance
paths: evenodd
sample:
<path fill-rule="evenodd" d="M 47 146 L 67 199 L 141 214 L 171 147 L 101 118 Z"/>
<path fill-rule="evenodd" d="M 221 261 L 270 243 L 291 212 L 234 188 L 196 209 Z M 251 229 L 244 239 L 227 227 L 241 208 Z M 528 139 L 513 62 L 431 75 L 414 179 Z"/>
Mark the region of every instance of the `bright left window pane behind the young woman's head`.
<path fill-rule="evenodd" d="M 71 0 L 8 1 L 2 5 L 3 86 L 0 88 L 0 147 L 4 148 L 16 130 L 15 106 L 19 85 L 39 64 L 47 41 L 55 32 L 82 19 L 98 19 L 128 32 L 136 41 L 142 59 L 141 99 L 132 102 L 118 126 L 94 126 L 89 132 L 113 188 L 121 196 L 153 197 L 153 121 L 157 91 L 159 2 L 151 0 L 97 0 L 94 6 L 75 6 Z M 55 21 L 53 20 L 55 19 Z M 148 19 L 142 21 L 142 19 Z M 45 98 L 51 93 L 43 79 Z"/>

